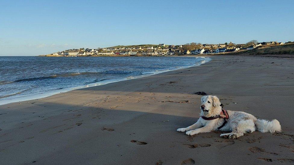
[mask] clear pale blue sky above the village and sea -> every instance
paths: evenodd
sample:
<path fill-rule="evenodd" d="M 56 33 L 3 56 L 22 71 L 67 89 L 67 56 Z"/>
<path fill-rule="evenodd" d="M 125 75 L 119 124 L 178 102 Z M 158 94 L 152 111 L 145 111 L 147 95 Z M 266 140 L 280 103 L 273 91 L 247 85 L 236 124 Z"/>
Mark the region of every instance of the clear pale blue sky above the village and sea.
<path fill-rule="evenodd" d="M 294 40 L 294 1 L 3 1 L 0 56 L 130 44 Z"/>

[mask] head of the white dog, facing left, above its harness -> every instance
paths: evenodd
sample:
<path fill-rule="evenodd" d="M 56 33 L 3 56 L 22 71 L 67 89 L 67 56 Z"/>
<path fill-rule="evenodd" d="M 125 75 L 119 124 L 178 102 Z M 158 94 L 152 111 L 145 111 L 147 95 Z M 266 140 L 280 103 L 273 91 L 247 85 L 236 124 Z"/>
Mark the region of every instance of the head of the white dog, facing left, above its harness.
<path fill-rule="evenodd" d="M 217 96 L 203 96 L 201 98 L 201 115 L 206 117 L 216 116 L 220 114 L 220 100 Z"/>

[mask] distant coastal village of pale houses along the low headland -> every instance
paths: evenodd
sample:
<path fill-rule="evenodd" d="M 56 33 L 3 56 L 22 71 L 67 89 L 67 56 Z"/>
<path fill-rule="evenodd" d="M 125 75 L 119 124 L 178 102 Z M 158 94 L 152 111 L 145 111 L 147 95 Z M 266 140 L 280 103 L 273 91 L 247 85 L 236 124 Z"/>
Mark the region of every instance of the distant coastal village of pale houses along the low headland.
<path fill-rule="evenodd" d="M 256 47 L 273 47 L 283 44 L 291 44 L 294 42 L 257 42 L 257 40 L 249 41 L 246 44 L 201 44 L 190 43 L 184 45 L 166 45 L 166 44 L 145 44 L 145 45 L 130 45 L 130 46 L 114 46 L 107 48 L 80 48 L 69 49 L 60 52 L 55 52 L 45 56 L 184 56 L 184 55 L 201 55 L 201 54 L 217 54 L 238 52 L 244 50 L 252 50 Z"/>

